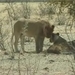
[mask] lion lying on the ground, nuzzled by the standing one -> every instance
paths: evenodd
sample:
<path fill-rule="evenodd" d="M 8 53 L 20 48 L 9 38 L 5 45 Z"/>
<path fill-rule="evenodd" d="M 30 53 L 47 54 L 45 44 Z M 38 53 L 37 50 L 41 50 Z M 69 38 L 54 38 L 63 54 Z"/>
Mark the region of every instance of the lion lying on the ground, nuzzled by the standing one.
<path fill-rule="evenodd" d="M 71 42 L 67 42 L 64 38 L 59 36 L 59 33 L 53 33 L 50 38 L 50 42 L 53 42 L 53 45 L 47 49 L 48 53 L 62 53 L 62 52 L 74 52 L 74 48 L 70 45 Z"/>

